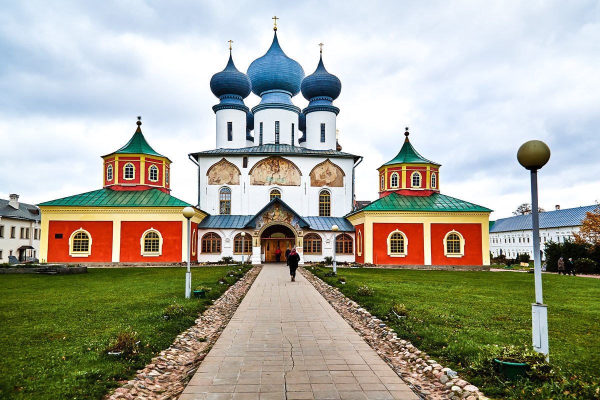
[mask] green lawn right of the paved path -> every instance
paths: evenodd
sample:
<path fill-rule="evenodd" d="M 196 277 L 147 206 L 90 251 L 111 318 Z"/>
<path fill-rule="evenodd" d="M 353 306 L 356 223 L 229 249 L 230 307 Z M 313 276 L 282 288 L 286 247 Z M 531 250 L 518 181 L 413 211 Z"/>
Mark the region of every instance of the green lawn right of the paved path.
<path fill-rule="evenodd" d="M 343 285 L 323 276 L 327 270 L 316 274 L 387 321 L 400 338 L 464 374 L 491 354 L 488 346 L 531 347 L 532 273 L 343 268 L 338 270 L 346 278 Z M 358 294 L 362 285 L 373 288 L 374 295 Z M 472 374 L 470 381 L 493 398 L 598 398 L 600 281 L 544 274 L 542 287 L 550 361 L 566 380 L 505 384 Z M 392 316 L 394 303 L 406 306 L 407 317 Z"/>

